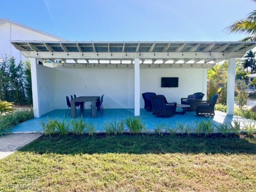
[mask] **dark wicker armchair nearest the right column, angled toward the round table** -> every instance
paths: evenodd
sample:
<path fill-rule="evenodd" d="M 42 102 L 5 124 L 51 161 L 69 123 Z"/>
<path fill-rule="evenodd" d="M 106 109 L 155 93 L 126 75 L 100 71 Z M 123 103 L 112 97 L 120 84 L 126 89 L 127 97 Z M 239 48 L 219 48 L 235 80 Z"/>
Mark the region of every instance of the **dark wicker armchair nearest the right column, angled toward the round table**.
<path fill-rule="evenodd" d="M 210 101 L 202 101 L 200 104 L 196 106 L 196 115 L 213 117 L 215 115 L 214 106 L 217 100 L 218 94 L 215 94 Z"/>

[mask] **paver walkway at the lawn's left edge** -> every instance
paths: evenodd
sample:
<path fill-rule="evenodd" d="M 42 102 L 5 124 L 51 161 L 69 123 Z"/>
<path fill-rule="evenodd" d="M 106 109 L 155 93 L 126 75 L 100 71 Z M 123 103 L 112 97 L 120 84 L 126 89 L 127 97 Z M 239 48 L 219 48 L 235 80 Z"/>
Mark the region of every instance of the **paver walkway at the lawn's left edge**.
<path fill-rule="evenodd" d="M 42 134 L 24 133 L 8 134 L 0 137 L 0 159 L 14 153 L 40 136 L 42 136 Z"/>

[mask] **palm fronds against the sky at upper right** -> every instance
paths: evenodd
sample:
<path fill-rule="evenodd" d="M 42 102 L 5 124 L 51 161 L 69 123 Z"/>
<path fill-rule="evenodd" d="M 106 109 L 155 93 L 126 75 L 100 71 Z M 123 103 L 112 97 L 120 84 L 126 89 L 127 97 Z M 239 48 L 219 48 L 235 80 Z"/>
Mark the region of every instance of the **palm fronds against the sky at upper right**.
<path fill-rule="evenodd" d="M 256 2 L 256 0 L 253 0 Z M 234 22 L 225 28 L 230 33 L 244 33 L 249 36 L 241 41 L 256 41 L 256 10 L 252 10 L 244 19 Z"/>

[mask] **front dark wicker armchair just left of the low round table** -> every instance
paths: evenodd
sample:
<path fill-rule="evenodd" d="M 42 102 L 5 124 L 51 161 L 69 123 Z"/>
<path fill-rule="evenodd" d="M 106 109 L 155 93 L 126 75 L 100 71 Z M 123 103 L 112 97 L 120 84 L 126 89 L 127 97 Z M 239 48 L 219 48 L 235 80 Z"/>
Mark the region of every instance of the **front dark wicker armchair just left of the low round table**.
<path fill-rule="evenodd" d="M 162 95 L 150 97 L 152 102 L 152 114 L 156 117 L 167 118 L 175 114 L 177 103 L 166 104 L 166 98 Z"/>

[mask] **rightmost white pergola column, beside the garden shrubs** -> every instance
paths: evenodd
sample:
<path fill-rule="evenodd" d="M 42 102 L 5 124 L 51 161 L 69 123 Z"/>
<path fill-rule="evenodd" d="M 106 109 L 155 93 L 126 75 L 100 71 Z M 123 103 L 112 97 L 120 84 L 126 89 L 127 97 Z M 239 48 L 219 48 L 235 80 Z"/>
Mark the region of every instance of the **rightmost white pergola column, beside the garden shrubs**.
<path fill-rule="evenodd" d="M 236 59 L 228 59 L 227 114 L 234 115 Z"/>

